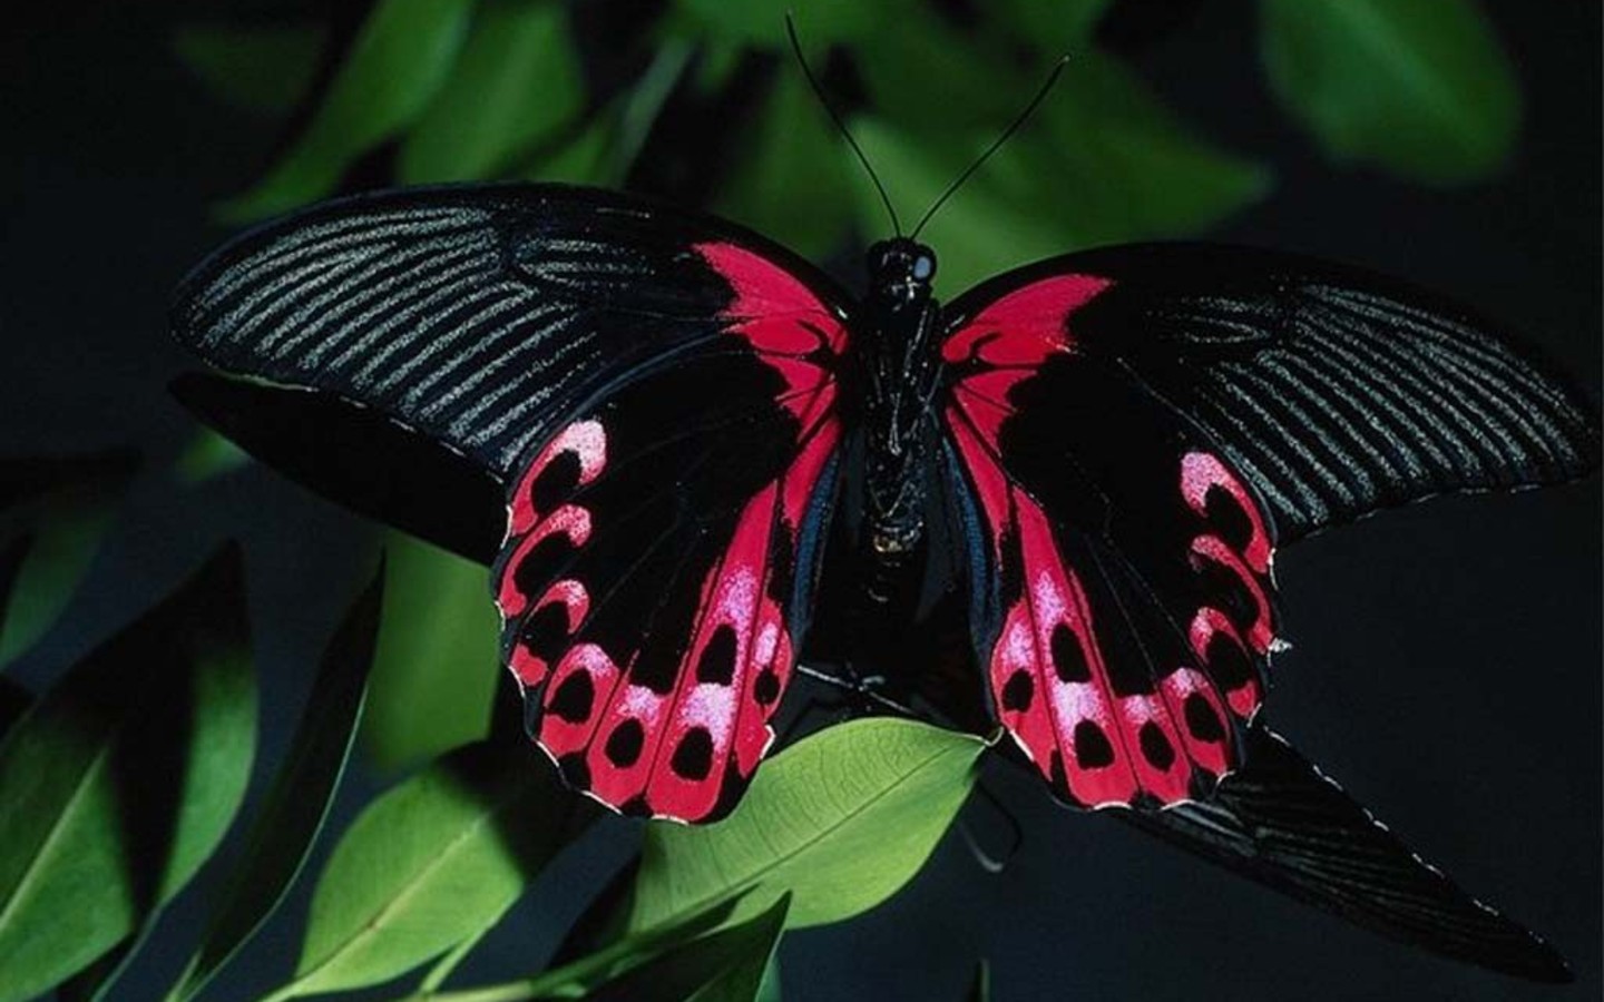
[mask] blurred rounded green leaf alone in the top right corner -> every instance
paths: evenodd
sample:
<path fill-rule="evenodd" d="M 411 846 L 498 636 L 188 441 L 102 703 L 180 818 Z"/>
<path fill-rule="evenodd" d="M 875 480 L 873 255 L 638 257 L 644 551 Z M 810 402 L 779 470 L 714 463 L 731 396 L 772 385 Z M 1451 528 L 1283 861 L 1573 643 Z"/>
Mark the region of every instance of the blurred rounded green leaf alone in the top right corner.
<path fill-rule="evenodd" d="M 1471 0 L 1264 0 L 1275 96 L 1336 160 L 1436 184 L 1509 159 L 1521 91 Z"/>

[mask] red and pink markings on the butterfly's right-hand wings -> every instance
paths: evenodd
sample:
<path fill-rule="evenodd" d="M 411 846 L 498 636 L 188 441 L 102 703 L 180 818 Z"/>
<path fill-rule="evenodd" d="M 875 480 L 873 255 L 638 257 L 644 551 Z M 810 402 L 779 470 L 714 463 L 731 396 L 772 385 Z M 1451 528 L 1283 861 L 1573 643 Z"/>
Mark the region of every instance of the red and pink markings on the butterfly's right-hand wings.
<path fill-rule="evenodd" d="M 1015 388 L 1073 354 L 1073 311 L 1107 285 L 1046 279 L 956 330 L 943 345 L 954 374 L 946 422 L 998 569 L 1001 619 L 982 654 L 1001 723 L 1073 803 L 1174 805 L 1233 768 L 1232 717 L 1258 709 L 1254 665 L 1272 643 L 1270 543 L 1216 457 L 1181 457 L 1173 508 L 1195 531 L 1190 550 L 1171 556 L 1192 568 L 1203 601 L 1176 622 L 1140 579 L 1105 566 L 1116 560 L 1099 556 L 1110 548 L 1102 526 L 1062 524 L 1009 475 L 999 436 Z M 1152 622 L 1173 636 L 1152 636 Z"/>

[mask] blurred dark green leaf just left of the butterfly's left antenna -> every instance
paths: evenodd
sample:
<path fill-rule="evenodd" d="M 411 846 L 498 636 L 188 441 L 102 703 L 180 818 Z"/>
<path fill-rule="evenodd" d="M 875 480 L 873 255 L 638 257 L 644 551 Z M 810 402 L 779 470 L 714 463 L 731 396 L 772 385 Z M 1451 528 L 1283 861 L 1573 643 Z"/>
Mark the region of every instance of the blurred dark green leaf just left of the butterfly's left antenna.
<path fill-rule="evenodd" d="M 850 152 L 800 74 L 775 79 L 752 125 L 757 135 L 723 186 L 717 212 L 805 257 L 824 257 L 842 242 L 850 223 L 839 208 L 852 197 L 845 176 Z"/>

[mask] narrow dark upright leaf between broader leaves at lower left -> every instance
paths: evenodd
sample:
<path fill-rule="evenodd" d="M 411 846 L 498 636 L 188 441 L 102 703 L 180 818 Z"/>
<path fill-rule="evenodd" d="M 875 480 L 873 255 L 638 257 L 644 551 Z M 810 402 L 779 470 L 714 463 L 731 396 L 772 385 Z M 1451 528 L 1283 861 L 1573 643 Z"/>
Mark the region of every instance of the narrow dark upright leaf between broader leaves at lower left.
<path fill-rule="evenodd" d="M 306 709 L 257 818 L 234 879 L 170 999 L 189 999 L 255 935 L 289 893 L 329 816 L 363 715 L 379 633 L 383 568 L 322 654 Z"/>

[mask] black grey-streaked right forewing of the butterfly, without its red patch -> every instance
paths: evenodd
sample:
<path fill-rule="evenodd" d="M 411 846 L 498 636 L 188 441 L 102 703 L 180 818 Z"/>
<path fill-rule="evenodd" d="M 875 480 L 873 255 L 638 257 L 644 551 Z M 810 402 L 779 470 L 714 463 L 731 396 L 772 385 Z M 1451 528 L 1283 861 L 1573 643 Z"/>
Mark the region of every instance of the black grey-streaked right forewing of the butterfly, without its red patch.
<path fill-rule="evenodd" d="M 999 276 L 950 313 L 1055 274 L 1112 281 L 1076 311 L 1076 349 L 1197 423 L 1264 499 L 1277 545 L 1434 494 L 1598 467 L 1598 417 L 1580 393 L 1498 325 L 1359 269 L 1112 247 Z"/>

